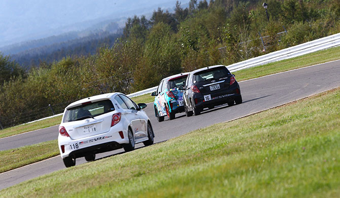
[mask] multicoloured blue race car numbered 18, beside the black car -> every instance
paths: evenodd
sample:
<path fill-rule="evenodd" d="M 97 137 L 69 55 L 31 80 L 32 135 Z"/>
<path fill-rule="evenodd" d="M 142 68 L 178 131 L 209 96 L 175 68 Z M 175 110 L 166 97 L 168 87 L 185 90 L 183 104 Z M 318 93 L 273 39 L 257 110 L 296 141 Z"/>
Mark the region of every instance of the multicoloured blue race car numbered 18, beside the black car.
<path fill-rule="evenodd" d="M 187 76 L 188 73 L 180 73 L 163 78 L 157 90 L 151 93 L 156 96 L 154 108 L 158 122 L 164 121 L 164 116 L 173 120 L 176 113 L 184 112 L 183 88 Z"/>

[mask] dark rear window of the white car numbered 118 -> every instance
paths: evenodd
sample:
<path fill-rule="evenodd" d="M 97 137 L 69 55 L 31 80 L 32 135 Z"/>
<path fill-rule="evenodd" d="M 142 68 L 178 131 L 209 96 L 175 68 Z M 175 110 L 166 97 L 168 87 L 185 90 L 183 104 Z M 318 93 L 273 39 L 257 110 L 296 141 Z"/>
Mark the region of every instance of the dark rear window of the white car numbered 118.
<path fill-rule="evenodd" d="M 89 104 L 84 104 L 67 109 L 64 115 L 63 122 L 67 123 L 72 121 L 84 120 L 90 117 L 93 118 L 94 116 L 108 113 L 114 110 L 115 107 L 113 106 L 111 100 L 102 100 Z"/>

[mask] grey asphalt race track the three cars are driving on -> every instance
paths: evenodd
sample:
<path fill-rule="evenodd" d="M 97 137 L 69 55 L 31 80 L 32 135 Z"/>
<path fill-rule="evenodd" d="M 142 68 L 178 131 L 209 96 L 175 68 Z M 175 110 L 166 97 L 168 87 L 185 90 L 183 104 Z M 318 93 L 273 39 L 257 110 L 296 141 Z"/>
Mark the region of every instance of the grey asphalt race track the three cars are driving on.
<path fill-rule="evenodd" d="M 173 121 L 165 118 L 165 121 L 158 123 L 154 116 L 152 103 L 148 104 L 145 111 L 151 119 L 155 132 L 155 143 L 178 137 L 195 129 L 230 121 L 340 87 L 340 60 L 243 81 L 240 83 L 240 87 L 243 97 L 242 104 L 231 107 L 222 105 L 212 110 L 205 110 L 198 116 L 186 117 L 184 113 L 179 113 L 176 114 Z M 0 139 L 0 150 L 49 141 L 56 139 L 57 136 L 58 126 L 54 126 L 3 138 Z M 144 147 L 144 145 L 137 144 L 136 147 Z M 119 153 L 123 153 L 123 149 L 98 154 L 96 160 Z M 77 159 L 77 165 L 83 163 L 86 163 L 84 157 Z M 55 156 L 42 162 L 8 171 L 0 174 L 0 189 L 64 168 L 60 156 Z"/>

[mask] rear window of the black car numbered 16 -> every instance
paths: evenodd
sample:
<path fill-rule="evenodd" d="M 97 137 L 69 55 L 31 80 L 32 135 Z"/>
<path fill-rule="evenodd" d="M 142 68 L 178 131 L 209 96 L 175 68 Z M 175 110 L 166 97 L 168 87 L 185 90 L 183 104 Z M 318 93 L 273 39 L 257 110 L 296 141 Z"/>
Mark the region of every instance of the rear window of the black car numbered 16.
<path fill-rule="evenodd" d="M 194 83 L 220 80 L 221 78 L 230 75 L 229 70 L 226 67 L 216 67 L 212 69 L 203 70 L 194 74 Z"/>

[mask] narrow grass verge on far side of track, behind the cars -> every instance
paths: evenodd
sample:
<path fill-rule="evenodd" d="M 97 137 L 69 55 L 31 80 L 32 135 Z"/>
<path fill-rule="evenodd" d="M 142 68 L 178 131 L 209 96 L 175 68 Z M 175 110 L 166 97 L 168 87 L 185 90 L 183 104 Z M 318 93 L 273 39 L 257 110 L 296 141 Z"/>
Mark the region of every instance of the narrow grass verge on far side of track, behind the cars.
<path fill-rule="evenodd" d="M 310 65 L 315 65 L 319 63 L 325 63 L 332 60 L 340 59 L 340 47 L 331 48 L 327 50 L 322 50 L 314 52 L 311 54 L 282 60 L 274 63 L 269 63 L 266 65 L 261 65 L 257 67 L 252 67 L 248 69 L 243 69 L 240 71 L 233 72 L 236 75 L 237 81 L 244 81 L 255 77 L 265 76 L 273 73 L 288 71 L 291 69 L 306 67 Z M 137 96 L 132 98 L 136 103 L 149 103 L 154 101 L 154 97 L 150 94 L 144 94 L 142 96 Z M 33 131 L 37 129 L 42 129 L 46 127 L 51 127 L 59 124 L 61 121 L 61 116 L 57 118 L 49 118 L 44 121 L 35 122 L 32 124 L 16 126 L 4 130 L 0 130 L 0 138 L 8 137 L 28 131 Z M 41 124 L 42 123 L 42 124 Z"/>

